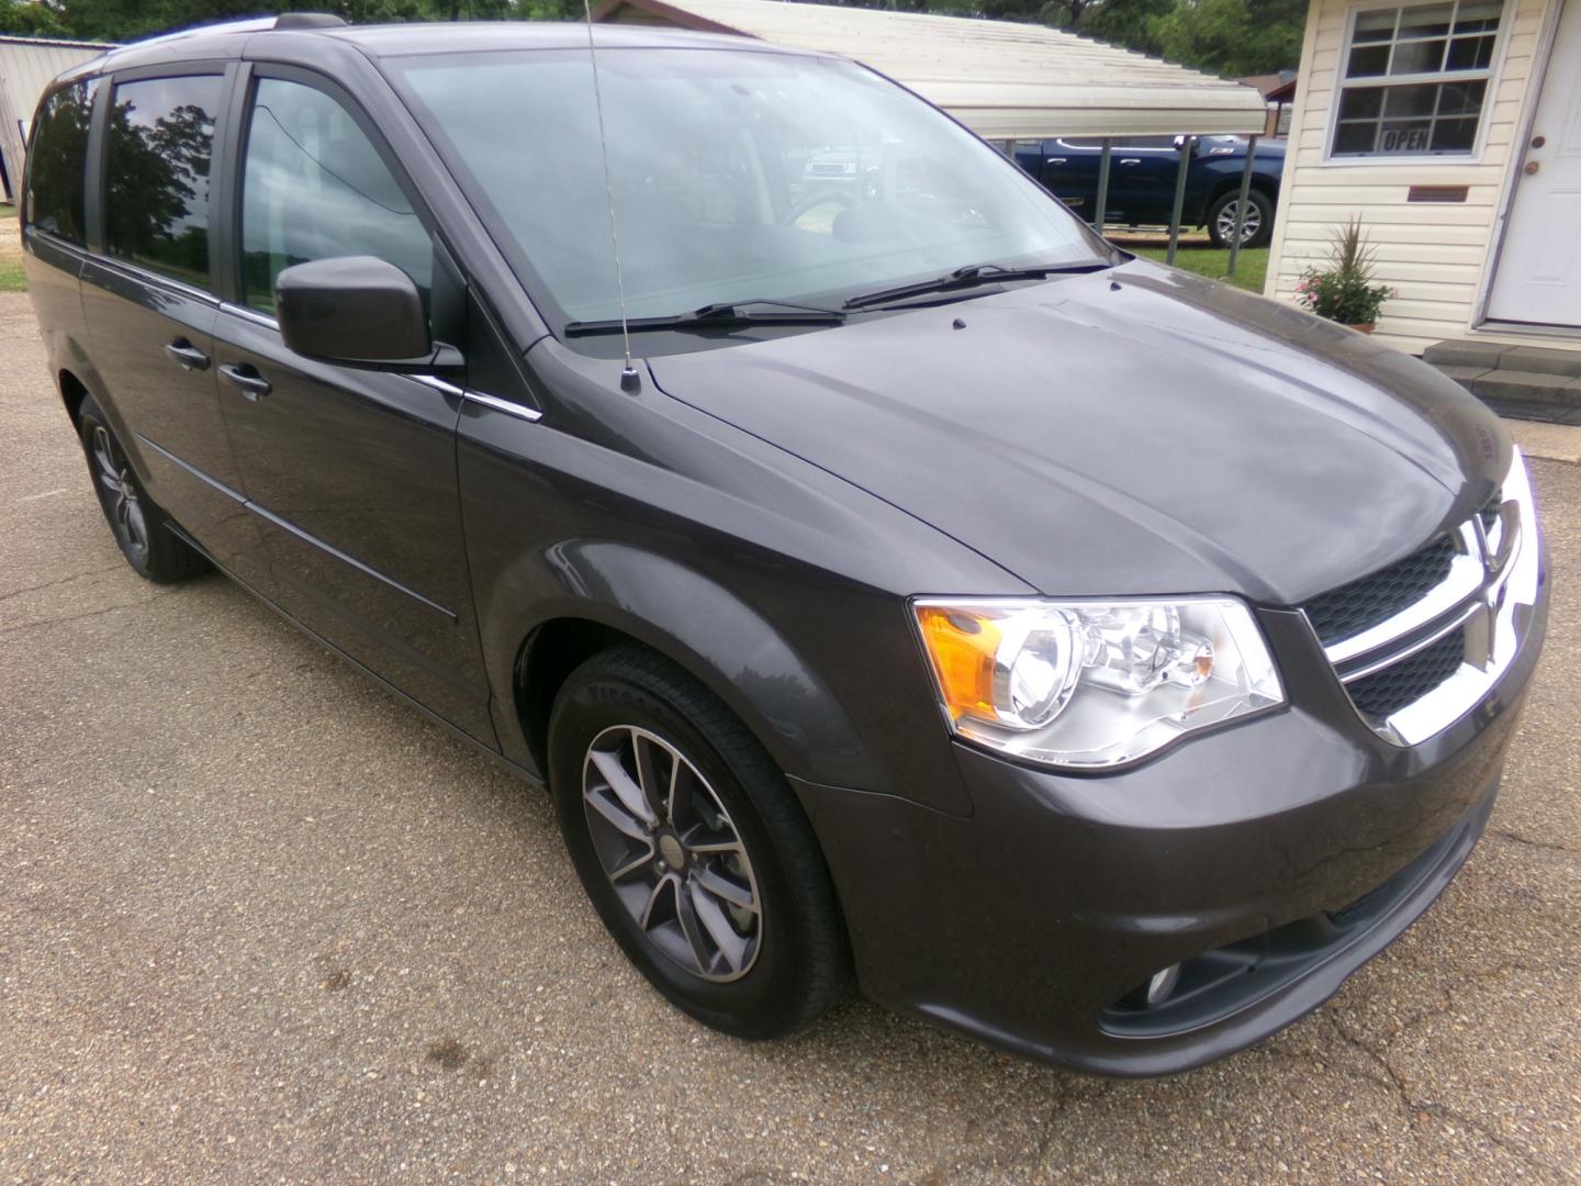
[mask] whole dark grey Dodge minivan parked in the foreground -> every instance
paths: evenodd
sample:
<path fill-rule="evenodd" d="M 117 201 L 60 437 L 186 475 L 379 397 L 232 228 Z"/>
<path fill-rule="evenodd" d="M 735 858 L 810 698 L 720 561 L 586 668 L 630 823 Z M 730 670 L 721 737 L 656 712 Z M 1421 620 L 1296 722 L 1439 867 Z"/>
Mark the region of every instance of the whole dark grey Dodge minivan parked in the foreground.
<path fill-rule="evenodd" d="M 47 90 L 28 286 L 131 568 L 547 784 L 732 1034 L 854 974 L 1135 1075 L 1314 1009 L 1492 808 L 1548 602 L 1499 421 L 860 65 L 593 38 L 292 16 Z"/>

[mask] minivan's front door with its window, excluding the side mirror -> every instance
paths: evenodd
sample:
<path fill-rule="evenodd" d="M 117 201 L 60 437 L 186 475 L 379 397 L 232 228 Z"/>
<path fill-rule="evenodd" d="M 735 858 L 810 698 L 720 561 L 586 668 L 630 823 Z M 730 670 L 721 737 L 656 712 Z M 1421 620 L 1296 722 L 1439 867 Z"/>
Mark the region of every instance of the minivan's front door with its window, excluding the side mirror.
<path fill-rule="evenodd" d="M 462 342 L 465 286 L 338 87 L 255 68 L 237 106 L 237 275 L 215 324 L 215 373 L 272 596 L 493 745 L 457 495 L 460 389 L 300 357 L 274 318 L 285 267 L 378 256 L 417 283 L 435 338 Z"/>

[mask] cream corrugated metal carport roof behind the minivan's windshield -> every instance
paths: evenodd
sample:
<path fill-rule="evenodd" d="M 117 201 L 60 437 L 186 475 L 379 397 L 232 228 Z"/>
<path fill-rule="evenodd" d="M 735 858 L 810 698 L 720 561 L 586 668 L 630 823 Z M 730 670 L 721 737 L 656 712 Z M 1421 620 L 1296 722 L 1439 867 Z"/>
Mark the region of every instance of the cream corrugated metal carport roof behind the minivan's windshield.
<path fill-rule="evenodd" d="M 594 19 L 843 54 L 985 139 L 1262 133 L 1266 122 L 1252 87 L 1043 25 L 786 0 L 606 0 Z"/>

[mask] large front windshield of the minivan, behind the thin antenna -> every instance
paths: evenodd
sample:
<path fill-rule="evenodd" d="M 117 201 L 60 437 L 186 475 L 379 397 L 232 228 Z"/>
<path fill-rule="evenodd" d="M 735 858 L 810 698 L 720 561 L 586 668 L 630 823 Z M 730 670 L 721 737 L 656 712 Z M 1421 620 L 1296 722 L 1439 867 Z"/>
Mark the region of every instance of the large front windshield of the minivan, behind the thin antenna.
<path fill-rule="evenodd" d="M 618 316 L 587 51 L 384 59 L 523 281 Z M 610 47 L 598 81 L 626 310 L 843 299 L 975 264 L 1108 263 L 987 144 L 849 62 Z"/>

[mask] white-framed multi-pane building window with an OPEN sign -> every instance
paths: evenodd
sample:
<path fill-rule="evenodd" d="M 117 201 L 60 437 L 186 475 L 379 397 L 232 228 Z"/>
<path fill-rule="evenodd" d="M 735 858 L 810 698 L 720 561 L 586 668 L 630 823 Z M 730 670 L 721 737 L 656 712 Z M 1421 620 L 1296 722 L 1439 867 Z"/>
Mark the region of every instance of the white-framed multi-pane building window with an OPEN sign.
<path fill-rule="evenodd" d="M 1500 0 L 1356 13 L 1330 157 L 1469 157 L 1502 14 Z"/>

